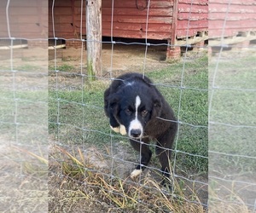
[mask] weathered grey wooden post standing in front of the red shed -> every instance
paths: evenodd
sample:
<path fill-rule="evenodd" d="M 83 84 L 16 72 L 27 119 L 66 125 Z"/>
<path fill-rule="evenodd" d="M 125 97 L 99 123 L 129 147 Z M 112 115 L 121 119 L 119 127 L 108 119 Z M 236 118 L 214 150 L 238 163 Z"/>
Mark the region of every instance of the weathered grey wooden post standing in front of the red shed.
<path fill-rule="evenodd" d="M 87 74 L 95 80 L 102 70 L 102 0 L 86 0 Z"/>

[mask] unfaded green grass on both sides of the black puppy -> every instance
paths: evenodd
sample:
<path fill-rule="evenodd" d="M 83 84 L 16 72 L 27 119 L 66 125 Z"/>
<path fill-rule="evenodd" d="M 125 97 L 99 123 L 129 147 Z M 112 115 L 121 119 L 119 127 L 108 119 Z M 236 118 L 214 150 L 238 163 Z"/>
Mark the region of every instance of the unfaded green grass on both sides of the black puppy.
<path fill-rule="evenodd" d="M 184 68 L 184 69 L 183 69 Z M 183 86 L 180 89 L 183 72 Z M 177 149 L 185 153 L 207 157 L 207 128 L 196 128 L 196 125 L 207 126 L 207 57 L 194 61 L 170 65 L 162 70 L 148 72 L 146 75 L 166 97 L 176 115 L 179 113 L 181 124 Z M 98 80 L 85 83 L 81 90 L 49 91 L 49 132 L 67 144 L 88 143 L 91 146 L 108 147 L 111 141 L 108 118 L 103 112 L 103 93 L 110 82 Z M 172 88 L 175 85 L 177 88 Z M 195 88 L 195 89 L 189 89 Z M 59 101 L 57 100 L 59 98 Z M 181 99 L 180 99 L 181 97 Z M 181 107 L 179 108 L 179 101 Z M 58 107 L 59 102 L 59 107 Z M 57 118 L 59 116 L 59 123 Z M 57 135 L 57 133 L 59 133 Z M 128 140 L 112 133 L 113 142 L 125 141 L 127 152 L 131 147 Z M 121 138 L 121 139 L 120 139 Z M 177 154 L 177 168 L 180 172 L 207 174 L 207 158 Z"/>

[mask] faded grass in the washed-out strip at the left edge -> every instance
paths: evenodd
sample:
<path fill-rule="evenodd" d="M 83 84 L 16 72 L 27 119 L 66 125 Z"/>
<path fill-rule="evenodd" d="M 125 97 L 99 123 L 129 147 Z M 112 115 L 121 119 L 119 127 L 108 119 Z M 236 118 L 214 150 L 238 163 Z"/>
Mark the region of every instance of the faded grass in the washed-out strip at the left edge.
<path fill-rule="evenodd" d="M 48 93 L 24 73 L 6 72 L 0 83 L 0 212 L 48 210 Z"/>

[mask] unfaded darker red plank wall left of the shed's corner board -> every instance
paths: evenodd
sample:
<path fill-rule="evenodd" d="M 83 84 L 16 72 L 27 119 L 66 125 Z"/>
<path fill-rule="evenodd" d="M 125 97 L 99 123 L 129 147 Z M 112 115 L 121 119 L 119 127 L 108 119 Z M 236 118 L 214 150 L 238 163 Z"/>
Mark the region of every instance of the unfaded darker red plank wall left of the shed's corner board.
<path fill-rule="evenodd" d="M 53 37 L 51 3 L 49 2 L 49 37 Z M 84 1 L 85 3 L 85 1 Z M 138 7 L 146 6 L 137 0 Z M 147 9 L 137 9 L 136 0 L 115 0 L 113 4 L 113 34 L 111 33 L 112 0 L 102 0 L 102 35 L 110 37 L 146 37 Z M 85 35 L 85 5 L 80 0 L 55 0 L 55 37 L 79 37 L 82 16 L 82 34 Z M 151 0 L 148 18 L 148 38 L 167 39 L 172 32 L 173 0 Z M 71 25 L 73 23 L 73 26 Z"/>

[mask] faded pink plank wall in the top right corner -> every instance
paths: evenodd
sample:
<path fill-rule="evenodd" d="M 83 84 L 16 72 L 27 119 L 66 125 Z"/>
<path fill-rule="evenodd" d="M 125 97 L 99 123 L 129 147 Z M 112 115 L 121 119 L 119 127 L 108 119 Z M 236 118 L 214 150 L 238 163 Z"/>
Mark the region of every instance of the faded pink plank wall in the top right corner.
<path fill-rule="evenodd" d="M 255 32 L 255 11 L 255 0 L 232 0 L 230 5 L 226 0 L 211 0 L 209 3 L 209 36 L 230 37 L 240 32 Z"/>

